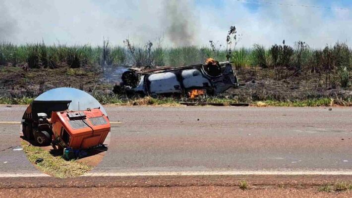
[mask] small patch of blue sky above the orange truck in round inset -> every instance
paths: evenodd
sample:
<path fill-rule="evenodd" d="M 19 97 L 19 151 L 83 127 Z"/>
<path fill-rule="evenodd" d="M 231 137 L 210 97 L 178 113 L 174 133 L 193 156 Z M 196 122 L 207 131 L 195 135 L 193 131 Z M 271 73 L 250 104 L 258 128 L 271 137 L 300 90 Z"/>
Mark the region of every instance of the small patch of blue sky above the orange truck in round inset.
<path fill-rule="evenodd" d="M 87 108 L 98 108 L 100 107 L 101 111 L 108 115 L 104 107 L 91 95 L 88 93 L 74 89 L 74 88 L 56 88 L 44 92 L 34 100 L 72 100 L 69 104 L 68 109 L 70 110 L 85 110 Z M 78 109 L 79 102 L 79 109 Z"/>

